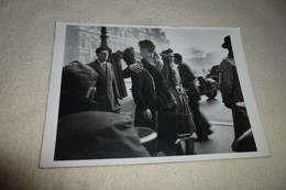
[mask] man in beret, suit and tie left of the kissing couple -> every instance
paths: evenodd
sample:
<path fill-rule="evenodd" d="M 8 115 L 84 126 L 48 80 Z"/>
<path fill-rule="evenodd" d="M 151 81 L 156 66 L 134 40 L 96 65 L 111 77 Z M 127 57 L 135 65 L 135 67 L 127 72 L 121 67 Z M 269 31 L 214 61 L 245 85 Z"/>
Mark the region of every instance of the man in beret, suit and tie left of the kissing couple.
<path fill-rule="evenodd" d="M 119 103 L 119 92 L 114 76 L 113 66 L 108 63 L 109 49 L 99 47 L 96 49 L 97 59 L 88 66 L 99 75 L 97 81 L 97 93 L 95 101 L 99 104 L 100 111 L 119 113 L 121 105 Z"/>

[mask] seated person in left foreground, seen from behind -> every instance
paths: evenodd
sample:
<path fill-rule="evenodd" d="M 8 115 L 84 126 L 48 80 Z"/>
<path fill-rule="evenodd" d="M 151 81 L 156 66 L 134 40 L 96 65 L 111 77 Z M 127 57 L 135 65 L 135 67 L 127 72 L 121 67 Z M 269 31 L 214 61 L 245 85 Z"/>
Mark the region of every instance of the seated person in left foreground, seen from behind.
<path fill-rule="evenodd" d="M 78 62 L 63 68 L 54 160 L 148 157 L 130 115 L 98 111 L 98 77 Z"/>

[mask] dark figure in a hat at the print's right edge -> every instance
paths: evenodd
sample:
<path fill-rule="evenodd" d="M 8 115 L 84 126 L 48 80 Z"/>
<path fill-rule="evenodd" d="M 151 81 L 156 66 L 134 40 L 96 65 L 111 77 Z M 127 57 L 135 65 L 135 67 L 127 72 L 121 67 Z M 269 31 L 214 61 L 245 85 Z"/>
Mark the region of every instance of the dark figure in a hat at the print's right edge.
<path fill-rule="evenodd" d="M 222 48 L 229 51 L 228 57 L 222 59 L 220 70 L 220 91 L 224 105 L 232 110 L 233 125 L 234 125 L 234 142 L 248 130 L 250 130 L 250 121 L 246 109 L 239 107 L 240 103 L 244 102 L 239 75 L 237 71 L 237 65 L 234 62 L 231 38 L 230 35 L 224 37 L 224 42 L 221 45 Z M 253 138 L 253 136 L 252 136 Z M 254 143 L 254 139 L 253 139 Z M 232 148 L 233 150 L 235 147 Z M 255 147 L 255 144 L 254 146 Z M 248 148 L 245 148 L 246 150 Z"/>

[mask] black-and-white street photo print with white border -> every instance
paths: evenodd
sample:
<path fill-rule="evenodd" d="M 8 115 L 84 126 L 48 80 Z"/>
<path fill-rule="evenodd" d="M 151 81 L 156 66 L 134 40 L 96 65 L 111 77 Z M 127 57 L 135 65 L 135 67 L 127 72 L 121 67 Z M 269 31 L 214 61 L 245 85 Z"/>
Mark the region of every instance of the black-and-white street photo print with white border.
<path fill-rule="evenodd" d="M 239 27 L 56 23 L 41 167 L 262 156 Z"/>

